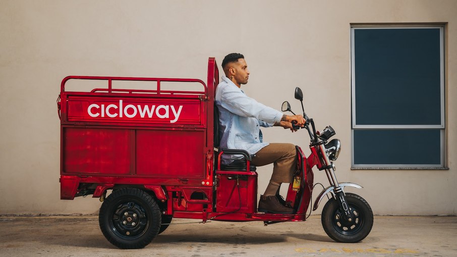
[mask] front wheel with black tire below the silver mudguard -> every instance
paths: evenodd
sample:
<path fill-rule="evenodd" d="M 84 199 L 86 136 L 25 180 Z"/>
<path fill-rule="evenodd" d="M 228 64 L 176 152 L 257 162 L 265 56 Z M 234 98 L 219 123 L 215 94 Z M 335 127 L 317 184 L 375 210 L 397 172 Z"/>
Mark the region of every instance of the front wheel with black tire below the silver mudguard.
<path fill-rule="evenodd" d="M 357 243 L 370 233 L 373 227 L 373 211 L 368 202 L 357 194 L 346 193 L 346 201 L 354 214 L 354 220 L 346 220 L 338 202 L 330 198 L 322 210 L 322 227 L 336 242 Z"/>

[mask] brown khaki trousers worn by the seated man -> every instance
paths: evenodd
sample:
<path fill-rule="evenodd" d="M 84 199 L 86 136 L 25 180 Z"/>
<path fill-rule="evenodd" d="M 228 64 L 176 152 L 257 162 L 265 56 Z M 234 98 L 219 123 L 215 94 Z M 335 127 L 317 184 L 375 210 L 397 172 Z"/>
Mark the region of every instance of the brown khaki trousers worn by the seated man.
<path fill-rule="evenodd" d="M 291 183 L 297 168 L 297 152 L 290 143 L 270 143 L 256 152 L 251 162 L 254 166 L 273 164 L 271 180 L 276 183 Z"/>

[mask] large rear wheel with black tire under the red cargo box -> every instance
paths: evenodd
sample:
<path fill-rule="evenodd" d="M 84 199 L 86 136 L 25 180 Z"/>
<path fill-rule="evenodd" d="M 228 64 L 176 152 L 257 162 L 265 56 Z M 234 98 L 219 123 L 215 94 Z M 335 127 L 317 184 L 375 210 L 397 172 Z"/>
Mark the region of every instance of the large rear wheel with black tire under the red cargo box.
<path fill-rule="evenodd" d="M 113 245 L 122 249 L 143 248 L 159 232 L 160 209 L 145 191 L 123 188 L 113 191 L 103 201 L 98 223 L 105 238 Z"/>

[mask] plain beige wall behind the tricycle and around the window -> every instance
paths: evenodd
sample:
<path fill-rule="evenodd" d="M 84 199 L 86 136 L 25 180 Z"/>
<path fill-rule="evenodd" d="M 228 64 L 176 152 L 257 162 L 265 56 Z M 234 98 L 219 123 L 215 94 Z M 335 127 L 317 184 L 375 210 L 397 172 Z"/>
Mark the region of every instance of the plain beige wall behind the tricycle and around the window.
<path fill-rule="evenodd" d="M 0 0 L 0 214 L 96 213 L 98 199 L 60 200 L 60 121 L 55 99 L 67 75 L 206 78 L 244 53 L 248 95 L 280 108 L 299 103 L 342 142 L 339 181 L 375 214 L 455 215 L 457 197 L 456 1 L 18 1 Z M 446 171 L 351 171 L 351 23 L 448 22 Z M 327 97 L 327 104 L 312 94 Z M 328 104 L 329 102 L 333 104 Z M 307 148 L 305 131 L 264 131 Z M 306 152 L 309 152 L 306 149 Z M 271 167 L 259 168 L 263 192 Z M 327 185 L 319 171 L 316 182 Z M 266 173 L 266 174 L 265 174 Z M 320 191 L 320 190 L 317 190 Z M 317 193 L 316 193 L 317 194 Z"/>

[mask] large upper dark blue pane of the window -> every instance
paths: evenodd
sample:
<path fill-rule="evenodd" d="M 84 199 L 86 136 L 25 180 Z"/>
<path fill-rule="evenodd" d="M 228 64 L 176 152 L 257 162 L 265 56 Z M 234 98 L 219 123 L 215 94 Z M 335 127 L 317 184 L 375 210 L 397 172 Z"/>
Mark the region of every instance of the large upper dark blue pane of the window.
<path fill-rule="evenodd" d="M 440 28 L 355 29 L 357 125 L 440 125 Z"/>

